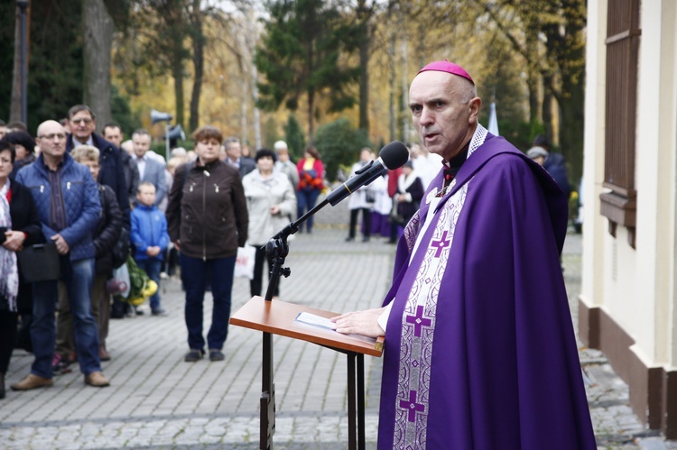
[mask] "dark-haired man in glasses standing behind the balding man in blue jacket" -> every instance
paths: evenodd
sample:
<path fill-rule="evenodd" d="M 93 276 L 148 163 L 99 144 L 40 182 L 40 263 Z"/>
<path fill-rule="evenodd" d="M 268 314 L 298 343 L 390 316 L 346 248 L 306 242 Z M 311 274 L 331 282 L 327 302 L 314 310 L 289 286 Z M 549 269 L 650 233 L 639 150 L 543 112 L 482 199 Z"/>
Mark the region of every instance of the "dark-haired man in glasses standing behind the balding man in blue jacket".
<path fill-rule="evenodd" d="M 101 170 L 97 181 L 109 186 L 116 193 L 117 204 L 122 211 L 125 227 L 129 228 L 129 195 L 125 181 L 123 162 L 116 146 L 94 133 L 97 129 L 97 116 L 87 105 L 76 105 L 69 110 L 70 134 L 66 141 L 66 152 L 79 145 L 97 147 L 98 163 Z"/>

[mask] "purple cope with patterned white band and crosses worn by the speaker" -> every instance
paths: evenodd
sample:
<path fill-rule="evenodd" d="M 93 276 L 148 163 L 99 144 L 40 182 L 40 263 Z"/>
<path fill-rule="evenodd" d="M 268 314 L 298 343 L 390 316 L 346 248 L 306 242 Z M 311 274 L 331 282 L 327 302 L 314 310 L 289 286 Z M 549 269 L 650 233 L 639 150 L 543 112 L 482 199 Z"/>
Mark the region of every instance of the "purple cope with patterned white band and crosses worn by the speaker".
<path fill-rule="evenodd" d="M 559 261 L 561 188 L 493 134 L 436 203 L 442 177 L 385 298 L 378 448 L 597 448 Z"/>

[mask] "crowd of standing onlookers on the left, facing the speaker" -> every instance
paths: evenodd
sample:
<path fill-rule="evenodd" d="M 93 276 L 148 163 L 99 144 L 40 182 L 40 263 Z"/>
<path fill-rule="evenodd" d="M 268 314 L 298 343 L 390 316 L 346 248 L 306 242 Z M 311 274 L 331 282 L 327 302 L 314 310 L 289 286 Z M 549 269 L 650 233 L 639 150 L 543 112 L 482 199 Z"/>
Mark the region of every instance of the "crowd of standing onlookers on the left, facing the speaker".
<path fill-rule="evenodd" d="M 110 384 L 101 368 L 115 357 L 106 345 L 110 320 L 145 311 L 115 295 L 125 265 L 115 257 L 120 241 L 128 241 L 134 267 L 157 286 L 181 272 L 184 360 L 209 352 L 211 361 L 222 361 L 237 249 L 255 246 L 251 293 L 261 295 L 260 247 L 314 207 L 326 187 L 312 146 L 297 162 L 283 141 L 250 155 L 237 138 L 206 125 L 193 133 L 192 150 L 177 147 L 163 157 L 151 150 L 147 130 L 125 140 L 118 124 L 100 129 L 85 105 L 43 122 L 35 137 L 24 124 L 0 121 L 0 398 L 14 348 L 32 352 L 34 361 L 13 390 L 49 387 L 75 363 L 86 384 Z M 37 249 L 49 257 L 28 267 L 23 254 Z M 27 274 L 31 268 L 41 272 L 38 279 Z M 205 338 L 208 290 L 214 307 Z M 148 298 L 153 317 L 168 314 L 160 292 Z"/>

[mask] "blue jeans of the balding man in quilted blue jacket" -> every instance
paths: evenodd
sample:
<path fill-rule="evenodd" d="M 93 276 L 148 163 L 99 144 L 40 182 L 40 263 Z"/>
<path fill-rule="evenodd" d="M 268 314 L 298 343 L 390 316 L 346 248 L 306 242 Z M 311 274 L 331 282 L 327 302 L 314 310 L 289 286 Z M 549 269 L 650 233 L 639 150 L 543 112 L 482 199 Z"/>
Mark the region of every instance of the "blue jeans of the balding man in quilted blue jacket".
<path fill-rule="evenodd" d="M 94 280 L 94 258 L 71 262 L 70 256 L 62 256 L 60 260 L 61 280 L 66 283 L 70 313 L 73 316 L 75 349 L 80 371 L 85 375 L 100 372 L 98 329 L 89 299 Z M 35 361 L 31 372 L 42 378 L 51 378 L 51 358 L 56 340 L 54 311 L 59 297 L 57 281 L 33 283 L 32 296 L 31 340 Z"/>

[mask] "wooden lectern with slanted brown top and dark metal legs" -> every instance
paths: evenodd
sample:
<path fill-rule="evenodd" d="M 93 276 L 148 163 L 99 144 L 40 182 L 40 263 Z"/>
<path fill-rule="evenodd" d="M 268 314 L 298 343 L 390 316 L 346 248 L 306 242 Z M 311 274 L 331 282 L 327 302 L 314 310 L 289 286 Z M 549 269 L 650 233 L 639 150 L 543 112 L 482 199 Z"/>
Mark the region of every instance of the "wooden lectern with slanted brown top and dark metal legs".
<path fill-rule="evenodd" d="M 384 338 L 340 335 L 326 328 L 301 324 L 296 317 L 307 312 L 320 317 L 338 313 L 309 308 L 281 300 L 253 297 L 232 317 L 230 323 L 264 332 L 264 361 L 261 394 L 261 448 L 273 446 L 275 397 L 272 335 L 283 335 L 323 345 L 348 356 L 348 448 L 365 448 L 365 354 L 380 357 Z M 357 361 L 357 366 L 356 366 Z M 357 413 L 356 413 L 357 412 Z M 356 423 L 357 417 L 357 423 Z M 357 433 L 356 433 L 357 432 Z"/>

